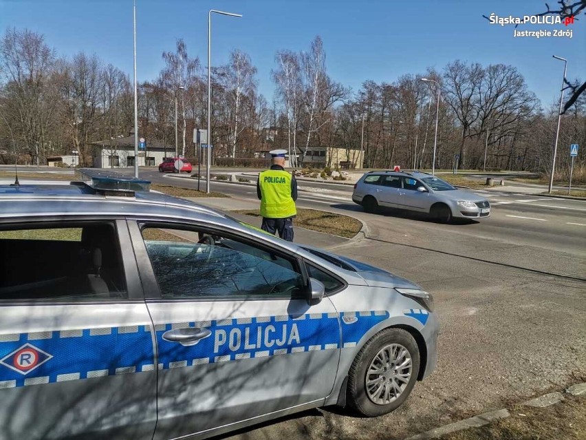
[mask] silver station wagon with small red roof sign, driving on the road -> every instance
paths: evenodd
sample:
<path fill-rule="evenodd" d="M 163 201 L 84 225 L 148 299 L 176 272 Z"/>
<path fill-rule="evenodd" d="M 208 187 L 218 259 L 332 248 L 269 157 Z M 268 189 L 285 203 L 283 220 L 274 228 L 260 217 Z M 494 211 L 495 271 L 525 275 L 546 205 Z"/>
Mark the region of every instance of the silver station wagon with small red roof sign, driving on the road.
<path fill-rule="evenodd" d="M 490 216 L 486 198 L 420 171 L 370 171 L 354 185 L 352 200 L 367 212 L 379 207 L 406 209 L 428 213 L 443 223 Z"/>

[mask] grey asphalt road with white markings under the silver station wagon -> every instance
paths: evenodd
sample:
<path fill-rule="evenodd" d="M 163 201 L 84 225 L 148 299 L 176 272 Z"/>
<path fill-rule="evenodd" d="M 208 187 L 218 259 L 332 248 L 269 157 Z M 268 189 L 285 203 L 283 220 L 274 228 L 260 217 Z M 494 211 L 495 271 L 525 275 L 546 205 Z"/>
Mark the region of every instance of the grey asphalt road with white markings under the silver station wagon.
<path fill-rule="evenodd" d="M 140 176 L 197 187 L 193 180 L 156 171 L 141 170 Z M 365 213 L 351 202 L 351 187 L 301 181 L 299 186 L 299 207 L 344 213 L 367 224 L 367 238 L 334 251 L 433 293 L 442 323 L 437 370 L 390 415 L 362 419 L 338 408 L 312 410 L 237 432 L 230 440 L 404 439 L 586 381 L 585 201 L 497 189 L 486 193 L 490 218 L 436 224 L 396 211 Z M 211 189 L 257 200 L 254 185 L 211 182 Z"/>

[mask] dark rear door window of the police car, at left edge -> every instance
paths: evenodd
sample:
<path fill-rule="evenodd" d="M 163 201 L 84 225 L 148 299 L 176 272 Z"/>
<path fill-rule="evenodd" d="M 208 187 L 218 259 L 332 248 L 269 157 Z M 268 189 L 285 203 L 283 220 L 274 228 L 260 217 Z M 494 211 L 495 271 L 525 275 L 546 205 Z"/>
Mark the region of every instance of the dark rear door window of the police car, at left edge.
<path fill-rule="evenodd" d="M 113 222 L 23 224 L 0 229 L 0 301 L 126 298 Z"/>

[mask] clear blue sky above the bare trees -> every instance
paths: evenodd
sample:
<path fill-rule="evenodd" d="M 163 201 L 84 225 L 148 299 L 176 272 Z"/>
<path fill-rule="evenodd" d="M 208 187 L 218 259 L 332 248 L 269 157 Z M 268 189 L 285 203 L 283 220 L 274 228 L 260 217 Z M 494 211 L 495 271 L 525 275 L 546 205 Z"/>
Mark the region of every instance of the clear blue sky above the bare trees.
<path fill-rule="evenodd" d="M 554 4 L 550 0 L 550 4 Z M 138 79 L 153 79 L 161 54 L 183 38 L 188 53 L 207 63 L 207 12 L 213 16 L 212 64 L 230 50 L 248 52 L 268 100 L 277 50 L 307 50 L 317 34 L 330 76 L 354 91 L 363 81 L 395 81 L 402 74 L 442 69 L 461 59 L 516 66 L 544 106 L 558 99 L 563 63 L 568 78 L 586 78 L 586 16 L 563 25 L 522 25 L 517 30 L 572 29 L 573 37 L 514 38 L 513 25 L 491 25 L 483 14 L 522 17 L 545 10 L 543 0 L 137 0 Z M 60 55 L 96 53 L 132 76 L 132 0 L 0 0 L 0 30 L 29 28 L 45 35 Z"/>

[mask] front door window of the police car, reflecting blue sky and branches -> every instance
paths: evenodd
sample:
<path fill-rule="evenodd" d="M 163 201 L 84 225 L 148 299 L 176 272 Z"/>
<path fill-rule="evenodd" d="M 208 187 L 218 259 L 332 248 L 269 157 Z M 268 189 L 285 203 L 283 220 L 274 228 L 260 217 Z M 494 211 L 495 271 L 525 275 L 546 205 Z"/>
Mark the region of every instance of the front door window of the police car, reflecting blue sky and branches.
<path fill-rule="evenodd" d="M 165 299 L 301 297 L 303 275 L 294 258 L 204 229 L 142 227 Z"/>

